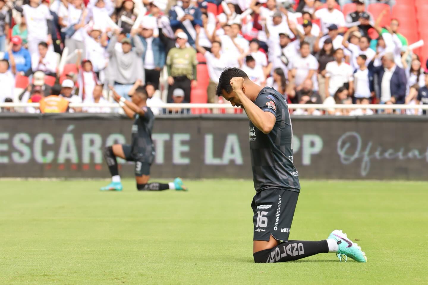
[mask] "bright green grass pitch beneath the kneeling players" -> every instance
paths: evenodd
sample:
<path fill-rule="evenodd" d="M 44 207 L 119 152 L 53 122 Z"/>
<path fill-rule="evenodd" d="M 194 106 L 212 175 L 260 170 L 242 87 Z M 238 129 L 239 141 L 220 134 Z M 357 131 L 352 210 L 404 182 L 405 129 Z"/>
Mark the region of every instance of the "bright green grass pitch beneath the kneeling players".
<path fill-rule="evenodd" d="M 303 181 L 290 239 L 343 229 L 368 263 L 254 264 L 252 181 L 185 182 L 0 180 L 0 284 L 428 284 L 427 183 Z"/>

